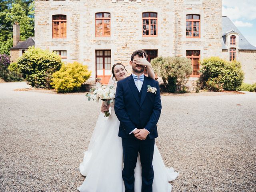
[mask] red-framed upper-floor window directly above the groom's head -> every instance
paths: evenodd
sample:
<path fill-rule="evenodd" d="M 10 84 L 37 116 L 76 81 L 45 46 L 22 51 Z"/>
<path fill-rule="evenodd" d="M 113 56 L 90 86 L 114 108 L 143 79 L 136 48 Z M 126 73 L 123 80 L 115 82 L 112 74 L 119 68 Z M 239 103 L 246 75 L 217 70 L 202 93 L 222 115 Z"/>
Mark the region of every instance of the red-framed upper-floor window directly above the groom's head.
<path fill-rule="evenodd" d="M 143 36 L 157 36 L 157 13 L 142 13 Z"/>

